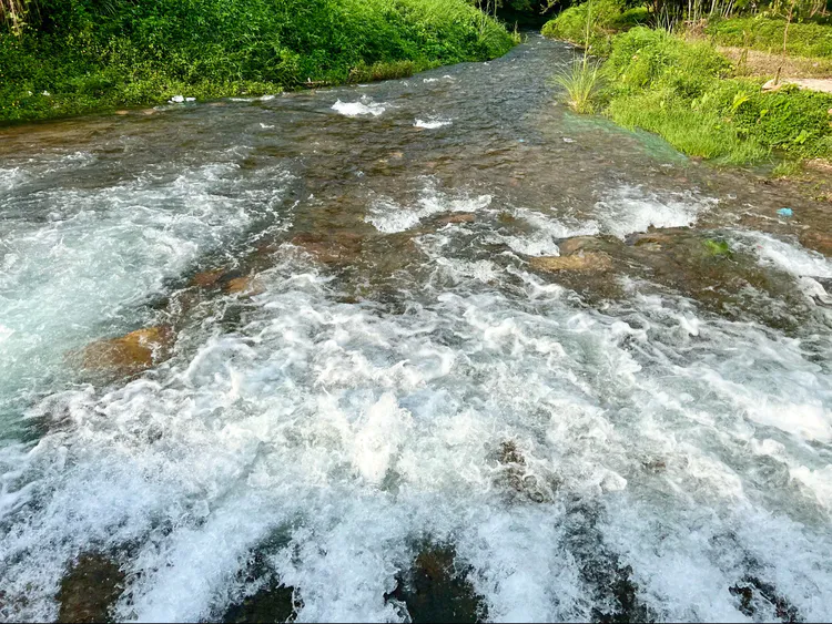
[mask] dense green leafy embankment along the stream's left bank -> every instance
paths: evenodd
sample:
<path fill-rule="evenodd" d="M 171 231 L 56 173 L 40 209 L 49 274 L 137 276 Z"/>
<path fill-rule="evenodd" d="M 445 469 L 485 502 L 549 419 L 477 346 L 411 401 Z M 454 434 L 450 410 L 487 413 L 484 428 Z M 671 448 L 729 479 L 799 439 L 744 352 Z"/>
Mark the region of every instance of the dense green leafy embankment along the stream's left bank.
<path fill-rule="evenodd" d="M 513 45 L 504 27 L 465 0 L 30 0 L 27 8 L 18 33 L 0 19 L 0 122 L 176 94 L 398 78 Z"/>

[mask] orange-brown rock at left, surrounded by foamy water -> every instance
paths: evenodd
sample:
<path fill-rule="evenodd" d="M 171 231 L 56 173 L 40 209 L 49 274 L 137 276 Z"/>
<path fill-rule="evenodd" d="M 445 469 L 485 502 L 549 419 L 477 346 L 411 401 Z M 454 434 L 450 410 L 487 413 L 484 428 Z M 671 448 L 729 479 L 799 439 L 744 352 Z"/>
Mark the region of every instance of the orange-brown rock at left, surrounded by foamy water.
<path fill-rule="evenodd" d="M 166 325 L 136 329 L 120 338 L 99 340 L 83 351 L 83 366 L 135 375 L 168 359 L 175 335 Z"/>

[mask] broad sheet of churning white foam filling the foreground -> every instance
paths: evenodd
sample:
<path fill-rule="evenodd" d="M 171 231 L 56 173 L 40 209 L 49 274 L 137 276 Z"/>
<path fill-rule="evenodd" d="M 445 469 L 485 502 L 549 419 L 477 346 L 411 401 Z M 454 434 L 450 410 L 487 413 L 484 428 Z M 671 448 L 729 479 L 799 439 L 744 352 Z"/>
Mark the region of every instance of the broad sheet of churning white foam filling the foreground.
<path fill-rule="evenodd" d="M 455 232 L 429 249 L 447 252 Z M 206 328 L 161 382 L 44 403 L 74 426 L 9 460 L 6 499 L 40 501 L 0 536 L 20 561 L 4 589 L 28 597 L 14 618 L 53 617 L 67 560 L 125 542 L 140 548 L 122 562 L 120 620 L 215 618 L 242 591 L 250 550 L 275 534 L 266 561 L 296 589 L 302 621 L 395 620 L 383 596 L 424 535 L 454 542 L 494 618 L 590 617 L 581 570 L 606 551 L 661 618 L 739 617 L 728 589 L 750 573 L 822 618 L 832 542 L 811 518 L 826 513 L 825 469 L 794 471 L 811 503 L 759 482 L 748 443 L 777 430 L 748 424 L 764 401 L 781 427 L 810 398 L 832 399 L 797 340 L 706 318 L 691 335 L 683 300 L 656 296 L 628 304 L 626 321 L 578 310 L 531 276 L 507 296 L 490 286 L 497 269 L 484 280 L 481 264 L 432 258 L 456 288 L 386 315 L 335 303 L 327 279 L 287 256 L 248 325 Z M 813 453 L 800 440 L 813 431 L 790 433 L 780 453 Z M 506 440 L 542 502 L 506 481 Z M 657 459 L 666 468 L 646 471 Z M 761 497 L 800 501 L 795 519 Z"/>

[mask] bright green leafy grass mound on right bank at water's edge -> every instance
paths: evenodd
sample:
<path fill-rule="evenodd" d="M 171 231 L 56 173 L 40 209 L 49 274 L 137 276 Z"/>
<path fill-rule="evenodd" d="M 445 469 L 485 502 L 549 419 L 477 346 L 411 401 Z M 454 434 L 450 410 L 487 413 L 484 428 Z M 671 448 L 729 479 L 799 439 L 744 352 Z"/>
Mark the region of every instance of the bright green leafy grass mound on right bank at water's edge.
<path fill-rule="evenodd" d="M 681 152 L 730 164 L 832 156 L 832 95 L 730 78 L 710 44 L 636 28 L 612 41 L 600 93 L 617 123 L 655 132 Z"/>

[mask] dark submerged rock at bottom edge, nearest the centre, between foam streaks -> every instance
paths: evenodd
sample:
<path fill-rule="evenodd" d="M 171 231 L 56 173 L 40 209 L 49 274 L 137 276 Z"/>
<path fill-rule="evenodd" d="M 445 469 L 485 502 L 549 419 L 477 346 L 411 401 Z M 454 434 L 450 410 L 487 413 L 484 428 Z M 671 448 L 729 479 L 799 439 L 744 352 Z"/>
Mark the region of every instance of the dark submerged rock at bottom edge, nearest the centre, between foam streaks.
<path fill-rule="evenodd" d="M 454 546 L 428 545 L 385 597 L 404 603 L 414 623 L 484 622 L 485 601 L 467 580 L 469 572 L 457 564 Z"/>

